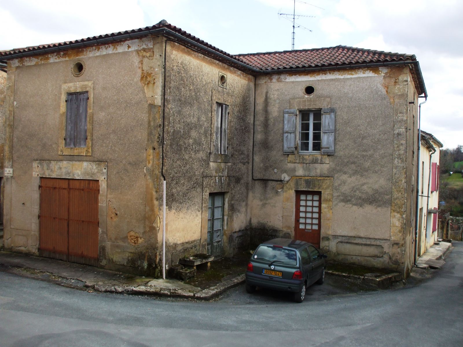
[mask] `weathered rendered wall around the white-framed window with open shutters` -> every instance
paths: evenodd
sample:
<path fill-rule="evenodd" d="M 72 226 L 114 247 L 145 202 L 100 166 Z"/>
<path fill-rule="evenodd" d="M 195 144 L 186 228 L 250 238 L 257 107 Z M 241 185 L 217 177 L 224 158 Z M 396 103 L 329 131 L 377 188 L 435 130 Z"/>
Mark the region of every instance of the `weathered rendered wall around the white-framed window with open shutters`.
<path fill-rule="evenodd" d="M 409 90 L 408 68 L 257 77 L 252 241 L 294 237 L 295 191 L 321 191 L 321 248 L 331 259 L 407 275 L 417 114 Z M 334 155 L 283 154 L 283 110 L 329 107 Z"/>

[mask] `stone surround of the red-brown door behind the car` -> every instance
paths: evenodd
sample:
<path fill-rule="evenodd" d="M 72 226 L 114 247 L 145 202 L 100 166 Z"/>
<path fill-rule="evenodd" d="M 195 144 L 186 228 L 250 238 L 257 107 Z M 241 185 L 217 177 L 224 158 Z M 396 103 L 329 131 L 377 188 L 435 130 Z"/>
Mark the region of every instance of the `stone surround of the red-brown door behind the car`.
<path fill-rule="evenodd" d="M 292 177 L 283 186 L 283 232 L 289 232 L 294 237 L 296 191 L 321 192 L 320 209 L 320 249 L 329 251 L 329 238 L 332 234 L 333 178 L 332 177 Z M 324 240 L 325 239 L 325 240 Z"/>

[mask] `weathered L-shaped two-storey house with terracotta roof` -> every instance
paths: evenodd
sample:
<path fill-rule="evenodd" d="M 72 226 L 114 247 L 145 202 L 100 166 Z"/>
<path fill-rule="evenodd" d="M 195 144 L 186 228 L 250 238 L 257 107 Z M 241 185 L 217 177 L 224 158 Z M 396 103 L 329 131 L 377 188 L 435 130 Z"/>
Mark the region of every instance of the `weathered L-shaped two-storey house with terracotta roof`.
<path fill-rule="evenodd" d="M 232 56 L 161 21 L 0 58 L 6 249 L 159 275 L 165 212 L 166 266 L 275 236 L 413 265 L 415 56 Z"/>

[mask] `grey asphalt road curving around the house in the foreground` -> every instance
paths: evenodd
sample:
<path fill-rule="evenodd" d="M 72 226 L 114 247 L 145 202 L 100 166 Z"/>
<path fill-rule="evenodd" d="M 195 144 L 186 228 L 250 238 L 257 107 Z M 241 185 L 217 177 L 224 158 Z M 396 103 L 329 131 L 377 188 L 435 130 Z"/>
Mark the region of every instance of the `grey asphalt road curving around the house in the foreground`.
<path fill-rule="evenodd" d="M 443 268 L 418 285 L 350 294 L 314 286 L 302 304 L 243 286 L 218 301 L 191 302 L 0 273 L 0 347 L 461 347 L 463 242 L 454 245 Z"/>

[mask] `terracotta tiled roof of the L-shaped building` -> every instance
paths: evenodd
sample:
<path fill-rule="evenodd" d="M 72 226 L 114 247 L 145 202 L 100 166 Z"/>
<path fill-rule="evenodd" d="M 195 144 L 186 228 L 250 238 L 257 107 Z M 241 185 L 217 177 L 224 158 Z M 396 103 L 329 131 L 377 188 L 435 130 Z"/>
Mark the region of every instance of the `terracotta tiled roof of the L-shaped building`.
<path fill-rule="evenodd" d="M 230 55 L 223 50 L 181 30 L 175 25 L 162 20 L 156 25 L 129 31 L 118 31 L 111 34 L 82 38 L 74 41 L 50 43 L 13 50 L 0 51 L 0 58 L 11 59 L 20 56 L 35 56 L 62 50 L 69 50 L 77 47 L 87 47 L 106 44 L 117 41 L 124 41 L 131 38 L 145 37 L 159 34 L 174 37 L 181 40 L 187 46 L 196 45 L 194 49 L 204 52 L 214 59 L 225 62 L 232 66 L 250 73 L 258 71 L 281 71 L 293 68 L 337 68 L 349 67 L 366 63 L 382 62 L 414 62 L 416 68 L 412 68 L 413 77 L 419 93 L 425 93 L 423 77 L 414 55 L 383 52 L 378 50 L 365 50 L 348 46 L 325 47 L 309 50 L 285 50 L 277 52 L 264 52 L 252 54 Z M 415 71 L 416 70 L 416 71 Z"/>

